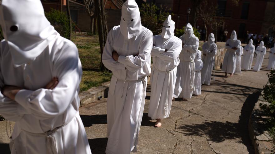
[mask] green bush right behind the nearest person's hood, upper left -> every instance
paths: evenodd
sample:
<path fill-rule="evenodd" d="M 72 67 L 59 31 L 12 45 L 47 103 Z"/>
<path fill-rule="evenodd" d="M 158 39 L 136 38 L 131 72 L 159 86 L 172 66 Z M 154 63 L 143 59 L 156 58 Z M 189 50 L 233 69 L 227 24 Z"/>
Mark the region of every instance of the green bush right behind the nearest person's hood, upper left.
<path fill-rule="evenodd" d="M 47 17 L 48 21 L 50 21 L 51 25 L 54 26 L 54 29 L 58 31 L 61 36 L 69 39 L 69 20 L 65 12 L 54 10 L 51 8 L 50 12 L 45 12 L 45 16 Z"/>

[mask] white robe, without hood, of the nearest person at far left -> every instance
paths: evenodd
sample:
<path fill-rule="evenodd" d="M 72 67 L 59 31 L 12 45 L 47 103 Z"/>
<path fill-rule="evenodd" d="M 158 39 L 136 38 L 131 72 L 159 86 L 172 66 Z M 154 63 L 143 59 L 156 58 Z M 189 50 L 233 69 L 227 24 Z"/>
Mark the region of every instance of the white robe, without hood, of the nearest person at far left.
<path fill-rule="evenodd" d="M 91 154 L 87 135 L 80 119 L 78 88 L 82 75 L 78 49 L 70 40 L 57 36 L 34 60 L 18 67 L 7 42 L 0 46 L 0 87 L 24 87 L 15 101 L 0 93 L 0 114 L 15 121 L 10 143 L 12 154 L 49 154 L 57 141 L 58 153 Z M 58 85 L 44 89 L 53 77 Z M 27 89 L 27 90 L 26 90 Z M 56 132 L 55 128 L 60 127 Z M 46 133 L 55 132 L 53 137 Z"/>

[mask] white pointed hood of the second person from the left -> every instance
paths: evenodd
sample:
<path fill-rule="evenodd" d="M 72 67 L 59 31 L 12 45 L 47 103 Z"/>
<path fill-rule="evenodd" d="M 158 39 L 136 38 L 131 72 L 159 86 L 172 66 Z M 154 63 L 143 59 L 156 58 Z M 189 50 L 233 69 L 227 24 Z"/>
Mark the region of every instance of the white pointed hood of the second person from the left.
<path fill-rule="evenodd" d="M 140 12 L 134 0 L 127 0 L 122 6 L 120 31 L 126 39 L 137 36 L 141 31 Z"/>

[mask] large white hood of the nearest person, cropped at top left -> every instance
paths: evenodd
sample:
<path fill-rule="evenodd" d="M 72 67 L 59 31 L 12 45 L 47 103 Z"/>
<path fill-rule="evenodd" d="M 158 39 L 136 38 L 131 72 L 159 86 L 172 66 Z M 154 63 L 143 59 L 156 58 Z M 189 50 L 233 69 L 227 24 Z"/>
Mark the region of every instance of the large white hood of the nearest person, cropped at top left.
<path fill-rule="evenodd" d="M 15 67 L 35 59 L 59 35 L 40 0 L 2 0 L 0 25 Z"/>

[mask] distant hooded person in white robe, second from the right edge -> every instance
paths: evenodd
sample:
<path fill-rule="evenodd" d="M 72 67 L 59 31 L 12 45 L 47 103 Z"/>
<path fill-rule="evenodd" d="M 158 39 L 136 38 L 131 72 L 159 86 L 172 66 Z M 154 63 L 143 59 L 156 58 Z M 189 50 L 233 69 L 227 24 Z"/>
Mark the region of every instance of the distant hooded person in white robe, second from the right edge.
<path fill-rule="evenodd" d="M 257 46 L 257 49 L 255 52 L 257 54 L 257 57 L 256 57 L 256 63 L 253 68 L 253 71 L 260 71 L 260 69 L 262 68 L 264 55 L 266 54 L 266 47 L 264 46 L 263 41 L 261 41 L 260 45 Z"/>

